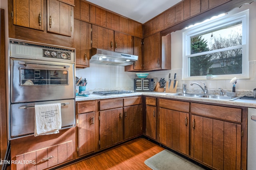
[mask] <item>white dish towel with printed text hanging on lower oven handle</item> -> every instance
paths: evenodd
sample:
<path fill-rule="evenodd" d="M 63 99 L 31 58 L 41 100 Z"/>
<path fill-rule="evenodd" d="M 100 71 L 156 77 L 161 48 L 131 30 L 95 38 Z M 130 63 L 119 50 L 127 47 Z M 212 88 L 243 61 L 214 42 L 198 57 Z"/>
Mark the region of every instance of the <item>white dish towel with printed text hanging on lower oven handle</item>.
<path fill-rule="evenodd" d="M 61 129 L 60 103 L 35 105 L 34 136 L 56 134 Z"/>

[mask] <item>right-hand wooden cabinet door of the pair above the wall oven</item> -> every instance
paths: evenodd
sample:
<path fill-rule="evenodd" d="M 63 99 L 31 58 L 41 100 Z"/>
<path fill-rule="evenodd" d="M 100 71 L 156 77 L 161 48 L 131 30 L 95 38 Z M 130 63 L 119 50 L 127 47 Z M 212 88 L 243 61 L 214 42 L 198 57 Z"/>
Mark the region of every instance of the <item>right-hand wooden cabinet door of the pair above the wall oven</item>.
<path fill-rule="evenodd" d="M 74 7 L 58 0 L 47 0 L 47 31 L 71 36 Z"/>

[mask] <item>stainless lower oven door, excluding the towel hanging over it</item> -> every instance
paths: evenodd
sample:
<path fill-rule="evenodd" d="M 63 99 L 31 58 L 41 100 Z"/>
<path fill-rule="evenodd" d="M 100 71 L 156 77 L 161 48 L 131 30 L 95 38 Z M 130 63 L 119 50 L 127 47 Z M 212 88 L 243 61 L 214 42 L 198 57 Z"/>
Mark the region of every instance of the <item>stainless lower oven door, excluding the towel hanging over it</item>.
<path fill-rule="evenodd" d="M 56 100 L 49 102 L 32 102 L 11 104 L 10 106 L 10 139 L 20 138 L 34 134 L 35 105 L 61 104 L 62 129 L 75 126 L 75 101 Z"/>

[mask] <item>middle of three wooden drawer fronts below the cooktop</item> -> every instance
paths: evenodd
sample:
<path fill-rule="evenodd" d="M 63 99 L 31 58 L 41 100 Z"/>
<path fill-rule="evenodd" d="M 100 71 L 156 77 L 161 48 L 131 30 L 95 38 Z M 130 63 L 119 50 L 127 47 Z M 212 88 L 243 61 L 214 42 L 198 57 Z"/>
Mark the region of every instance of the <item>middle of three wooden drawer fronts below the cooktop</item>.
<path fill-rule="evenodd" d="M 123 98 L 100 100 L 100 110 L 123 107 Z"/>

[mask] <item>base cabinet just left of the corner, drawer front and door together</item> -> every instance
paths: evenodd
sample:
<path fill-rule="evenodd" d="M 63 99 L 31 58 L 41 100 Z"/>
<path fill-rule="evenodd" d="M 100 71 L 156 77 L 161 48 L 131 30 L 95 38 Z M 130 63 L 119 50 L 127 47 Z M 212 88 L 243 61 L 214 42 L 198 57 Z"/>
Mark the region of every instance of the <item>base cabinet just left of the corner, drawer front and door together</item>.
<path fill-rule="evenodd" d="M 124 140 L 142 135 L 142 98 L 124 98 Z"/>

